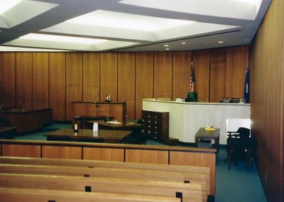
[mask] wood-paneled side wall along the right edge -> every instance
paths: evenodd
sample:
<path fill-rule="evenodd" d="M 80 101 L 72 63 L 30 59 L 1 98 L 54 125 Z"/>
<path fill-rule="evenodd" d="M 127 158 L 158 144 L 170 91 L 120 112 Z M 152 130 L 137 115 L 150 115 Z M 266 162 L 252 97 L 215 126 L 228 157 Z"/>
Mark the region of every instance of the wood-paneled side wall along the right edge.
<path fill-rule="evenodd" d="M 268 201 L 284 201 L 284 1 L 273 0 L 251 46 L 252 133 Z"/>

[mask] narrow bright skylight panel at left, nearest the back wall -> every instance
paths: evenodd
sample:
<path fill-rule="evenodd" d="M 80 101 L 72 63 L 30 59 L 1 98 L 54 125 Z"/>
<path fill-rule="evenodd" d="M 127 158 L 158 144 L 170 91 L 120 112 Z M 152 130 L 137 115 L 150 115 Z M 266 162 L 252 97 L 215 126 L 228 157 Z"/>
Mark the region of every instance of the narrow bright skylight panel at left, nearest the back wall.
<path fill-rule="evenodd" d="M 84 43 L 84 44 L 96 44 L 108 41 L 106 39 L 97 39 L 97 38 L 80 38 L 73 36 L 57 36 L 57 35 L 48 35 L 40 33 L 28 33 L 25 36 L 21 36 L 21 39 L 31 39 L 31 40 L 40 40 L 40 41 L 59 41 L 66 43 Z"/>

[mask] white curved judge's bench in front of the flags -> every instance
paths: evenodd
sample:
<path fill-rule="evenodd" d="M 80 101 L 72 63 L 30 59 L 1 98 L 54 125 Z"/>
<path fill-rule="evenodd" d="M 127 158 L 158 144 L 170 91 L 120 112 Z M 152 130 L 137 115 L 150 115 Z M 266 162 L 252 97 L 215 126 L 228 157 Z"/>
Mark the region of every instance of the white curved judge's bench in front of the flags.
<path fill-rule="evenodd" d="M 211 123 L 220 129 L 220 144 L 226 144 L 226 119 L 250 119 L 251 105 L 215 102 L 175 102 L 143 99 L 143 110 L 170 112 L 169 137 L 194 143 L 195 134 Z"/>

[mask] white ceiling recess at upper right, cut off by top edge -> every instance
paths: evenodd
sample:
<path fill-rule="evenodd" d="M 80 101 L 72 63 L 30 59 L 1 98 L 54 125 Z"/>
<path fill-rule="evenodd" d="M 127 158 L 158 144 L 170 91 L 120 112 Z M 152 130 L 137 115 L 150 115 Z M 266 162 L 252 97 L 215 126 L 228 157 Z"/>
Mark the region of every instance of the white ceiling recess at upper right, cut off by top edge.
<path fill-rule="evenodd" d="M 254 20 L 261 1 L 262 0 L 175 0 L 173 3 L 173 0 L 122 0 L 119 1 L 119 3 L 185 14 Z M 252 2 L 255 3 L 252 4 Z"/>

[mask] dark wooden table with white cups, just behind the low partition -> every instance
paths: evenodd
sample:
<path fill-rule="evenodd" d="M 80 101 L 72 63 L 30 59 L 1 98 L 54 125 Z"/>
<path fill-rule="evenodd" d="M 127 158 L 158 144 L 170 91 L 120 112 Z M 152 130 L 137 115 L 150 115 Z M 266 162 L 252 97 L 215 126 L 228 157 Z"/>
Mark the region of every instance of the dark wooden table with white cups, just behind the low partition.
<path fill-rule="evenodd" d="M 44 136 L 51 141 L 120 143 L 129 134 L 131 131 L 127 130 L 99 129 L 93 132 L 92 129 L 79 129 L 78 132 L 74 132 L 73 129 L 58 129 Z"/>

